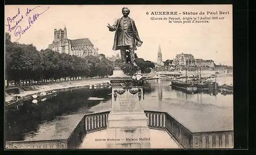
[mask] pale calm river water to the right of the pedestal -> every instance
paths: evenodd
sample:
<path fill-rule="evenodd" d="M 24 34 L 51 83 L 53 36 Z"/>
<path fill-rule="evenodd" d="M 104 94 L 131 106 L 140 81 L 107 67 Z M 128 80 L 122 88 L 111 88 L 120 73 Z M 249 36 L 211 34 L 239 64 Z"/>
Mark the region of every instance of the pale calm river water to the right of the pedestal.
<path fill-rule="evenodd" d="M 233 130 L 233 95 L 211 90 L 175 90 L 168 81 L 152 80 L 146 84 L 157 88 L 145 95 L 146 110 L 168 112 L 196 132 Z"/>

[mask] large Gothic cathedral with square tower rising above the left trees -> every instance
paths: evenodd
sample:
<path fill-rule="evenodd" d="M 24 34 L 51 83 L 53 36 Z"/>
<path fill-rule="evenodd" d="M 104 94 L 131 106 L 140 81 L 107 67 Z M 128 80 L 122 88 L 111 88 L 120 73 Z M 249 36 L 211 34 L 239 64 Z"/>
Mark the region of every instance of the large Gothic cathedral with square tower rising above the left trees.
<path fill-rule="evenodd" d="M 68 39 L 66 27 L 64 30 L 54 29 L 54 40 L 48 48 L 57 51 L 58 53 L 75 55 L 81 58 L 89 55 L 98 56 L 98 48 L 95 48 L 88 38 Z"/>

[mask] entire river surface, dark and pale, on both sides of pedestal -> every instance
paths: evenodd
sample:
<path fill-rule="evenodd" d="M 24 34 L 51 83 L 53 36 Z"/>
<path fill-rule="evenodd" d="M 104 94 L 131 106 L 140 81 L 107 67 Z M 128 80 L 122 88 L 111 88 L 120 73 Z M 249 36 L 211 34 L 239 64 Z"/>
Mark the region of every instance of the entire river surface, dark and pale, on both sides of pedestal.
<path fill-rule="evenodd" d="M 219 83 L 232 83 L 220 77 Z M 170 81 L 150 80 L 144 86 L 145 110 L 165 111 L 192 132 L 233 130 L 233 95 L 215 91 L 194 94 L 173 90 Z M 6 141 L 66 139 L 84 114 L 111 110 L 111 89 L 59 92 L 38 105 L 24 102 L 6 112 Z M 88 100 L 89 97 L 104 98 Z"/>

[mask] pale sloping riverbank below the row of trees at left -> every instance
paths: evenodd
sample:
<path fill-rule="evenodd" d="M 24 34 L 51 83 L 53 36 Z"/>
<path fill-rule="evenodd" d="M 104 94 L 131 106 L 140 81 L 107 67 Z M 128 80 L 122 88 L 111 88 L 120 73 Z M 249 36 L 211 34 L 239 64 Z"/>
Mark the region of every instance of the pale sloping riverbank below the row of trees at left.
<path fill-rule="evenodd" d="M 20 97 L 24 97 L 27 95 L 33 95 L 40 92 L 57 90 L 57 89 L 65 89 L 65 88 L 72 88 L 72 87 L 82 87 L 86 85 L 95 85 L 101 83 L 110 83 L 108 78 L 104 79 L 90 79 L 90 80 L 81 80 L 81 81 L 67 81 L 62 83 L 55 83 L 55 84 L 46 84 L 46 85 L 38 85 L 38 86 L 28 86 L 28 87 L 17 87 L 15 89 L 15 93 L 12 93 L 10 89 L 8 90 L 9 93 L 5 93 L 5 101 L 10 101 L 13 95 L 18 95 Z"/>

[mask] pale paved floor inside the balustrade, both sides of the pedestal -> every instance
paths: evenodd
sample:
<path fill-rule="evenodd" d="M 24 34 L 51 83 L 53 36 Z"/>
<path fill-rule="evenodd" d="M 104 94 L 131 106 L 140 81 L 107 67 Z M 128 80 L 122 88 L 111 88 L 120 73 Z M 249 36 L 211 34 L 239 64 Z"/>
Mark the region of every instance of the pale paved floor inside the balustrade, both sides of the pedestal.
<path fill-rule="evenodd" d="M 180 148 L 178 144 L 165 132 L 160 130 L 150 130 L 151 149 Z M 105 141 L 95 141 L 95 139 L 106 138 L 106 130 L 94 132 L 86 135 L 80 149 L 106 149 Z"/>

